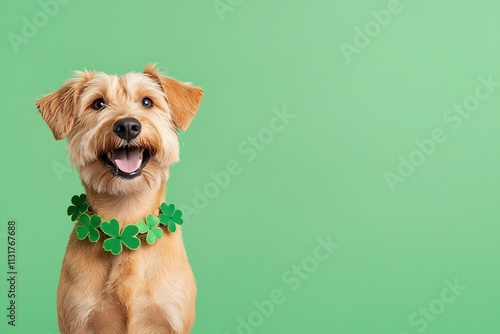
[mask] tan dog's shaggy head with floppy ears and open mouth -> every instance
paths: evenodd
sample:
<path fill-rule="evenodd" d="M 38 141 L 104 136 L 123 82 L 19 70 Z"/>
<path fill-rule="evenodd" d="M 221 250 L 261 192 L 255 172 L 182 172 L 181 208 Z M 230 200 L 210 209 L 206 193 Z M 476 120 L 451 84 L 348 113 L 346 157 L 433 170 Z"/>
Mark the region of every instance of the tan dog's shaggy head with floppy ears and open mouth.
<path fill-rule="evenodd" d="M 57 140 L 68 138 L 71 162 L 99 193 L 156 187 L 179 160 L 177 130 L 185 131 L 203 91 L 159 73 L 121 77 L 77 72 L 36 106 Z"/>

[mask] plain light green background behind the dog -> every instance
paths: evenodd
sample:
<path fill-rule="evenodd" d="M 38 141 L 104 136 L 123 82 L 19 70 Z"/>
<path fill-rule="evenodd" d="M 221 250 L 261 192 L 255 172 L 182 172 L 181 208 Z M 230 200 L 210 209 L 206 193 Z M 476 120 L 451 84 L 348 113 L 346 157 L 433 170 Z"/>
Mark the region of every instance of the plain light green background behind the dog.
<path fill-rule="evenodd" d="M 459 127 L 443 117 L 479 77 L 500 81 L 500 4 L 401 0 L 348 62 L 341 43 L 354 45 L 356 27 L 376 29 L 371 12 L 389 1 L 228 1 L 221 16 L 212 0 L 70 1 L 17 53 L 9 33 L 21 35 L 23 17 L 42 9 L 2 1 L 0 332 L 58 333 L 65 210 L 82 191 L 35 99 L 74 70 L 158 62 L 205 91 L 168 200 L 193 206 L 211 172 L 233 160 L 241 168 L 184 227 L 198 282 L 192 333 L 499 333 L 499 87 Z M 285 109 L 295 118 L 247 161 L 238 147 Z M 418 156 L 415 141 L 436 128 L 446 141 L 391 189 L 385 173 Z M 18 224 L 15 328 L 4 315 L 9 219 Z M 317 262 L 328 236 L 341 246 Z M 455 279 L 466 288 L 443 303 Z M 254 302 L 274 290 L 284 301 L 259 318 Z M 253 325 L 238 328 L 240 317 Z"/>

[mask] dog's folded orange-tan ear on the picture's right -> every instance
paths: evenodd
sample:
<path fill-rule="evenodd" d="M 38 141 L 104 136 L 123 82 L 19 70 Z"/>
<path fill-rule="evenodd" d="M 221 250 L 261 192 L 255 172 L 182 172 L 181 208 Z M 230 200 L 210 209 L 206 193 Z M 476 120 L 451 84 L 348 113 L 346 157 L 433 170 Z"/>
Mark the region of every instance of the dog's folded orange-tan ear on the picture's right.
<path fill-rule="evenodd" d="M 172 110 L 172 119 L 175 126 L 182 131 L 186 131 L 198 111 L 203 90 L 200 87 L 192 86 L 190 83 L 180 82 L 159 73 L 153 64 L 146 66 L 144 74 L 158 81 Z"/>

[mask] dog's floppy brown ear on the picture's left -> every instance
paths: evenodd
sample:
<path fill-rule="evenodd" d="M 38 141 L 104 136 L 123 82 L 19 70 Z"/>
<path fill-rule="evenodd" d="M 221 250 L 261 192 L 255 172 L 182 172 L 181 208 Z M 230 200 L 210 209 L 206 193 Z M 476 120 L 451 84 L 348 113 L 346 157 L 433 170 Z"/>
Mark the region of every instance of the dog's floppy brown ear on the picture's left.
<path fill-rule="evenodd" d="M 76 72 L 77 78 L 67 80 L 57 91 L 47 94 L 38 101 L 36 107 L 49 126 L 56 140 L 63 139 L 73 128 L 77 102 L 88 72 Z"/>

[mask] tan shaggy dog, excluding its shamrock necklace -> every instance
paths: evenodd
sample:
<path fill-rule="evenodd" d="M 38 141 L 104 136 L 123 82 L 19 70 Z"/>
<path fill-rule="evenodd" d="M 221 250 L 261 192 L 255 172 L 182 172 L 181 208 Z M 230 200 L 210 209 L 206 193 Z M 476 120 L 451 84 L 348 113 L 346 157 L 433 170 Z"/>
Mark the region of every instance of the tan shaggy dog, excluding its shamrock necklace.
<path fill-rule="evenodd" d="M 177 133 L 188 128 L 203 90 L 154 64 L 122 76 L 75 74 L 36 106 L 55 139 L 67 138 L 88 214 L 116 219 L 120 230 L 158 216 L 169 167 L 179 161 Z M 143 240 L 118 255 L 103 249 L 100 234 L 97 242 L 69 238 L 57 291 L 61 333 L 189 333 L 196 285 L 181 229 L 163 228 L 154 244 Z"/>

